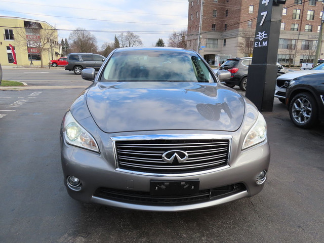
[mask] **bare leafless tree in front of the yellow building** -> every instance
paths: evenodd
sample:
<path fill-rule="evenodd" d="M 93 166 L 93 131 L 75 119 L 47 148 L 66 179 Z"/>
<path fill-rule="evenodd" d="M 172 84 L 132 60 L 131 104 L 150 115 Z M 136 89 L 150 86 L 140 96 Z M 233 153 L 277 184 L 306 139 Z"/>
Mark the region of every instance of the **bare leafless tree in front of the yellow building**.
<path fill-rule="evenodd" d="M 37 26 L 34 28 L 17 29 L 16 43 L 20 48 L 27 48 L 37 50 L 41 55 L 41 67 L 44 67 L 43 54 L 44 52 L 51 52 L 52 47 L 56 44 L 57 30 L 55 28 L 44 28 Z"/>

